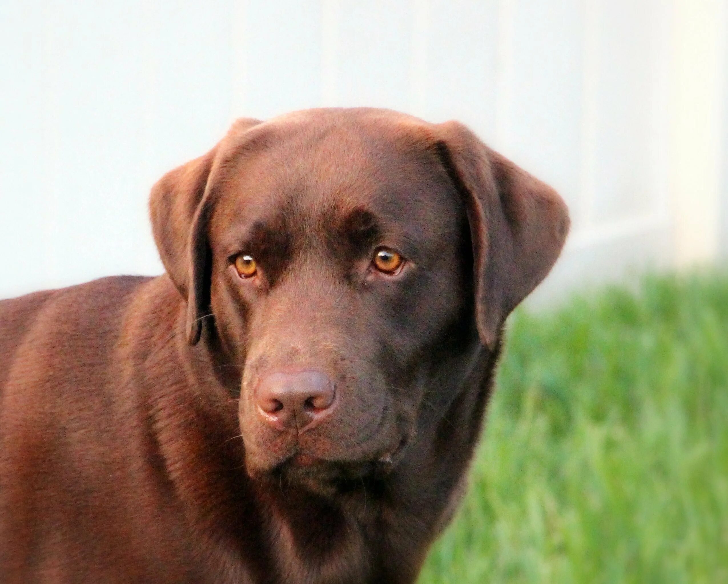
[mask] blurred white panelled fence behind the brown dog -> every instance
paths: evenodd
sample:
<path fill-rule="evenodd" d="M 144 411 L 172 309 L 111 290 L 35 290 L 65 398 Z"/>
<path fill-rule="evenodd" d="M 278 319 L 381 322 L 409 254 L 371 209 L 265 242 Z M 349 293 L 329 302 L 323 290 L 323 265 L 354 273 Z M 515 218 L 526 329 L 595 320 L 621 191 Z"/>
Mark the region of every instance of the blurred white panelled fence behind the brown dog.
<path fill-rule="evenodd" d="M 159 273 L 151 184 L 234 117 L 320 105 L 463 120 L 553 184 L 574 229 L 546 296 L 710 261 L 724 4 L 3 0 L 0 297 Z"/>

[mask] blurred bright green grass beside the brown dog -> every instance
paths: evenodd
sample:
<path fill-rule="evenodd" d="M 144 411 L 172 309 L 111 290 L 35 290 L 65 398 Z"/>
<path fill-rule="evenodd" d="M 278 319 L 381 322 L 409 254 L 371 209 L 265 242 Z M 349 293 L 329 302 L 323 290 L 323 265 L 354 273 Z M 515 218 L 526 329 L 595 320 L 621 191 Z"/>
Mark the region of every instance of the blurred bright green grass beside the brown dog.
<path fill-rule="evenodd" d="M 728 276 L 510 323 L 428 583 L 728 583 Z"/>

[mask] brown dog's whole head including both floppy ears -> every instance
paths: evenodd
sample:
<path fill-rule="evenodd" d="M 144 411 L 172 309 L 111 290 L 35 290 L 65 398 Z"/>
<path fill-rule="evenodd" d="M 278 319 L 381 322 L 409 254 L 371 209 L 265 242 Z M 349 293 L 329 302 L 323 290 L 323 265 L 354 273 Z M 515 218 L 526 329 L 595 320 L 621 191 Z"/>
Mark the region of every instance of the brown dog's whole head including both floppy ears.
<path fill-rule="evenodd" d="M 376 109 L 240 120 L 152 192 L 197 343 L 240 370 L 253 478 L 384 473 L 445 356 L 492 347 L 568 229 L 545 184 L 455 123 Z"/>

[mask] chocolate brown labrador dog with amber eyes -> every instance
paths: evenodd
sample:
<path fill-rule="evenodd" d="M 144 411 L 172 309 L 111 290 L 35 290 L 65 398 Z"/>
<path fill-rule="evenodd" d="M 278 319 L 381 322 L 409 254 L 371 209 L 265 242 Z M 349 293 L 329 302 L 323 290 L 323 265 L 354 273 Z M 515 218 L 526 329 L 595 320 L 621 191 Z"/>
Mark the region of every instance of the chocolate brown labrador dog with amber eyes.
<path fill-rule="evenodd" d="M 2 583 L 411 583 L 569 218 L 456 122 L 238 120 L 166 273 L 0 303 Z"/>

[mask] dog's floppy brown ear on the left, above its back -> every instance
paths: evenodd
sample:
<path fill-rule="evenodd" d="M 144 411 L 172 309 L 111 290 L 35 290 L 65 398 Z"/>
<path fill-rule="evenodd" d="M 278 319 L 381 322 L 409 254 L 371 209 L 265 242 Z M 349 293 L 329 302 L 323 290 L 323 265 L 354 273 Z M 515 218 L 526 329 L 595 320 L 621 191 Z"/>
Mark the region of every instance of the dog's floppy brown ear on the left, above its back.
<path fill-rule="evenodd" d="M 207 241 L 210 217 L 208 183 L 221 144 L 260 123 L 242 118 L 207 154 L 162 176 L 151 189 L 149 210 L 154 241 L 162 263 L 187 301 L 187 340 L 194 345 L 210 308 L 211 252 Z"/>

